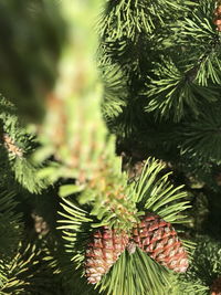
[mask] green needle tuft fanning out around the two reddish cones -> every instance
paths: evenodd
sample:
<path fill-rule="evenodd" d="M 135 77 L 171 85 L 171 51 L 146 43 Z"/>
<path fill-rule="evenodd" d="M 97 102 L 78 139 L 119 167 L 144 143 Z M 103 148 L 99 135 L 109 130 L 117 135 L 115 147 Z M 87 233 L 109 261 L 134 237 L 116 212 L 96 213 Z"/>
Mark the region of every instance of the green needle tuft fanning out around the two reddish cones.
<path fill-rule="evenodd" d="M 160 214 L 164 219 L 173 223 L 183 223 L 185 215 L 181 213 L 189 208 L 189 201 L 185 200 L 187 193 L 182 192 L 182 187 L 175 188 L 168 180 L 168 173 L 164 175 L 165 166 L 157 160 L 149 159 L 144 167 L 143 173 L 138 179 L 137 183 L 130 183 L 127 186 L 130 194 L 130 202 L 134 207 L 137 207 L 138 212 L 134 210 L 135 220 L 138 215 L 143 214 L 144 211 L 154 211 Z M 113 179 L 112 181 L 115 181 Z M 116 186 L 117 183 L 115 183 Z M 114 186 L 114 188 L 115 188 Z M 110 187 L 108 187 L 110 189 Z M 85 188 L 85 191 L 87 189 Z M 125 191 L 125 193 L 126 193 Z M 91 199 L 97 198 L 97 191 L 90 190 L 87 196 Z M 114 190 L 115 192 L 115 190 Z M 81 192 L 85 194 L 86 192 Z M 108 191 L 110 194 L 112 191 Z M 105 192 L 103 194 L 103 202 L 105 202 Z M 129 196 L 127 196 L 129 197 Z M 117 199 L 117 196 L 109 199 L 113 203 Z M 86 199 L 88 204 L 88 199 Z M 93 208 L 93 201 L 91 202 L 92 208 L 87 206 L 86 210 L 80 208 L 71 199 L 63 198 L 62 208 L 64 212 L 61 212 L 63 217 L 59 221 L 62 225 L 59 229 L 63 230 L 63 238 L 65 239 L 66 251 L 71 253 L 73 263 L 77 264 L 81 272 L 83 270 L 83 262 L 85 259 L 85 249 L 90 240 L 90 233 L 93 232 L 94 226 L 101 226 L 102 224 L 108 224 L 108 226 L 115 225 L 116 228 L 126 228 L 128 233 L 134 225 L 130 215 L 125 215 L 129 220 L 124 220 L 119 217 L 118 212 L 108 212 L 108 207 L 105 210 L 107 218 L 104 215 L 103 207 L 96 207 L 96 211 Z M 122 202 L 122 206 L 125 206 Z M 127 210 L 127 208 L 125 209 Z M 97 223 L 96 218 L 101 219 Z M 112 222 L 114 221 L 114 223 Z M 122 224 L 123 223 L 123 224 Z M 124 225 L 125 223 L 125 225 Z M 188 244 L 187 244 L 188 245 Z M 191 246 L 188 245 L 190 249 Z M 151 270 L 151 271 L 149 271 Z M 175 278 L 173 278 L 175 280 Z M 120 259 L 113 266 L 113 270 L 107 273 L 101 283 L 99 291 L 105 291 L 105 294 L 147 294 L 151 291 L 151 294 L 160 294 L 159 292 L 170 285 L 170 273 L 162 266 L 154 262 L 147 254 L 141 253 L 139 250 L 135 254 L 129 255 L 125 252 Z"/>

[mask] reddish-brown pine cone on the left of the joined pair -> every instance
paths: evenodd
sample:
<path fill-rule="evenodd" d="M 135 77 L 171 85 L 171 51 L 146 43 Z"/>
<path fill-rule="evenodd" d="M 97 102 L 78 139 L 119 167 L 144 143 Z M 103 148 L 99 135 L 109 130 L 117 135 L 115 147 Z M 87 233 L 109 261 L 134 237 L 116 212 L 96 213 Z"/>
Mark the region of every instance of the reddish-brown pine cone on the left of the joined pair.
<path fill-rule="evenodd" d="M 85 253 L 85 276 L 87 282 L 96 284 L 118 260 L 128 243 L 125 232 L 103 226 L 97 230 Z"/>

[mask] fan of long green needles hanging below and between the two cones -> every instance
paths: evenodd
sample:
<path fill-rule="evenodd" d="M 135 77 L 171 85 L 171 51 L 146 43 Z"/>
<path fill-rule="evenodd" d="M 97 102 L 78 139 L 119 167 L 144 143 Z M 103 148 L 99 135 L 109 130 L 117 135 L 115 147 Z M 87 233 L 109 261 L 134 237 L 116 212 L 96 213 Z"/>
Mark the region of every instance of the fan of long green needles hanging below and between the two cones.
<path fill-rule="evenodd" d="M 102 281 L 101 292 L 113 295 L 162 294 L 170 284 L 169 271 L 154 262 L 141 250 L 134 254 L 125 252 Z"/>

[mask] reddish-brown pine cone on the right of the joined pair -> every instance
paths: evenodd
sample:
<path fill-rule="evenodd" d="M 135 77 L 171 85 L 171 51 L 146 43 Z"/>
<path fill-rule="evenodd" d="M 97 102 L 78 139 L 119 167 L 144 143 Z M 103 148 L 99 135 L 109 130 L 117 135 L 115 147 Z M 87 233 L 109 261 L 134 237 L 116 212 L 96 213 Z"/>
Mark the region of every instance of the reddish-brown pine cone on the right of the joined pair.
<path fill-rule="evenodd" d="M 187 252 L 171 224 L 159 215 L 147 213 L 133 229 L 133 240 L 159 264 L 177 273 L 187 271 Z"/>

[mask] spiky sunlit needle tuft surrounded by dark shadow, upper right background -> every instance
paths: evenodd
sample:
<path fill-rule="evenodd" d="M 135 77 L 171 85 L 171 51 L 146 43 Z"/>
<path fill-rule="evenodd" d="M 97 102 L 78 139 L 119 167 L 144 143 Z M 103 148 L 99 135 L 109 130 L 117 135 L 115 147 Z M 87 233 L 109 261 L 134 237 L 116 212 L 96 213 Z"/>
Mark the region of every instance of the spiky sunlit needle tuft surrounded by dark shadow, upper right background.
<path fill-rule="evenodd" d="M 188 110 L 199 115 L 200 99 L 213 102 L 220 96 L 218 89 L 202 87 L 193 81 L 194 69 L 189 64 L 176 65 L 162 56 L 152 72 L 157 78 L 151 80 L 150 89 L 146 93 L 150 97 L 146 110 L 167 119 L 172 117 L 175 122 L 180 122 Z"/>

